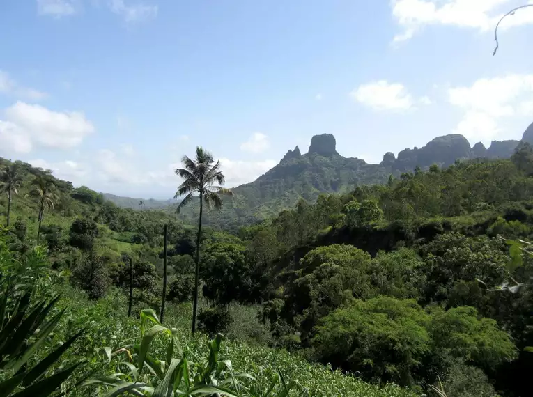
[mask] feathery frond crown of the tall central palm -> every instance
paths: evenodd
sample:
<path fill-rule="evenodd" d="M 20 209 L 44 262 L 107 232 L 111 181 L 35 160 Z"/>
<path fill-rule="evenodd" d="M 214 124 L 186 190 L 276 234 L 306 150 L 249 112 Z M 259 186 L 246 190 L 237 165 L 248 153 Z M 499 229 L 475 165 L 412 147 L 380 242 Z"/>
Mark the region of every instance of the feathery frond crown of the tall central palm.
<path fill-rule="evenodd" d="M 220 194 L 233 196 L 231 190 L 219 186 L 224 185 L 225 180 L 224 174 L 220 171 L 220 162 L 217 161 L 215 163 L 213 155 L 203 150 L 201 146 L 196 147 L 196 157 L 194 159 L 183 156 L 181 162 L 185 168 L 178 168 L 175 172 L 176 175 L 183 178 L 183 183 L 178 187 L 174 198 L 177 199 L 184 195 L 185 198 L 178 205 L 176 212 L 179 213 L 181 208 L 192 200 L 195 192 L 200 194 L 208 208 L 212 208 L 214 205 L 217 209 L 222 206 Z"/>

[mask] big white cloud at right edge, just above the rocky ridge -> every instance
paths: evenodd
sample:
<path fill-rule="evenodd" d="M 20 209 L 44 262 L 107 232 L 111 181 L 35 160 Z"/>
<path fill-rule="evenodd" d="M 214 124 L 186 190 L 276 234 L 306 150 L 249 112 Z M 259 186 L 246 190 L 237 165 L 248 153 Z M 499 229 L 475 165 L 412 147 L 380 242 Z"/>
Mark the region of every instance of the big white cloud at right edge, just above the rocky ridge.
<path fill-rule="evenodd" d="M 449 88 L 448 100 L 464 111 L 454 133 L 488 142 L 502 132 L 502 120 L 531 117 L 533 75 L 479 79 L 472 86 Z"/>

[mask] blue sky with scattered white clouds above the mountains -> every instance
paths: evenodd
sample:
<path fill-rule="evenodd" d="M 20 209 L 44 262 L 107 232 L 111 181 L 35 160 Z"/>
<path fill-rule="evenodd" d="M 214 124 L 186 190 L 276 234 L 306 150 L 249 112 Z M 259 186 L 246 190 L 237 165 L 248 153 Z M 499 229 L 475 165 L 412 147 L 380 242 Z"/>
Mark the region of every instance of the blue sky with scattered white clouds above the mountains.
<path fill-rule="evenodd" d="M 0 156 L 171 198 L 196 146 L 226 185 L 330 133 L 345 157 L 533 122 L 529 0 L 0 0 Z M 533 3 L 533 1 L 530 1 Z"/>

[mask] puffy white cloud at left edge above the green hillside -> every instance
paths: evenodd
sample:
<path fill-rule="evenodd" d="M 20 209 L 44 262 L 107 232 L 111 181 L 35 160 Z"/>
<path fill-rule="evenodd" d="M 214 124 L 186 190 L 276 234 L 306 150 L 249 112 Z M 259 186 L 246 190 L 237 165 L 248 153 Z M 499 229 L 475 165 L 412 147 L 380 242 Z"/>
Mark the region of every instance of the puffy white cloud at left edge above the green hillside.
<path fill-rule="evenodd" d="M 28 153 L 33 144 L 68 149 L 78 146 L 94 132 L 84 114 L 77 111 L 51 111 L 38 104 L 16 102 L 4 111 L 3 129 L 16 138 L 19 153 Z M 1 120 L 0 120 L 1 121 Z M 8 141 L 6 137 L 2 141 Z M 10 139 L 13 142 L 15 139 Z"/>

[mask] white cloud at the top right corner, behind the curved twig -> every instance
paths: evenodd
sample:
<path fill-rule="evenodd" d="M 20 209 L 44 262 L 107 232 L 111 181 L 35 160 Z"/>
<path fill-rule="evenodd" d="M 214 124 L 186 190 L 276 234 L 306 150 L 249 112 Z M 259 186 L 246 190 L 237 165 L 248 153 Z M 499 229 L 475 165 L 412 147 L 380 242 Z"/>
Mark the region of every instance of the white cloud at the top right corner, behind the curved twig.
<path fill-rule="evenodd" d="M 530 1 L 533 3 L 533 1 Z M 403 31 L 394 42 L 408 40 L 426 25 L 449 25 L 477 29 L 495 28 L 498 20 L 513 8 L 511 0 L 392 0 L 392 15 Z M 533 8 L 524 8 L 506 18 L 502 29 L 533 23 Z"/>

